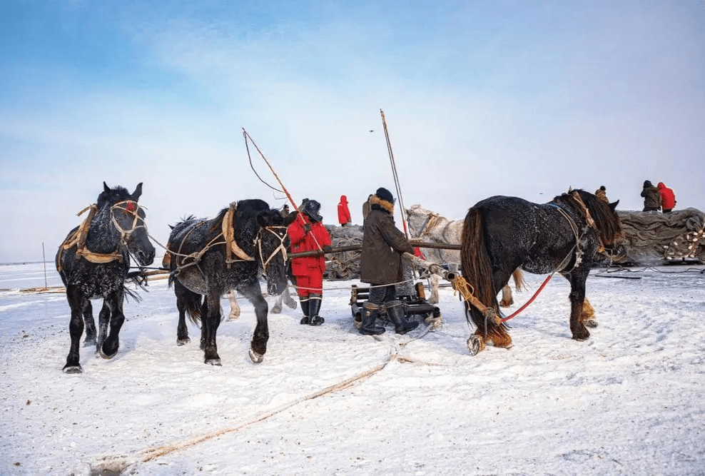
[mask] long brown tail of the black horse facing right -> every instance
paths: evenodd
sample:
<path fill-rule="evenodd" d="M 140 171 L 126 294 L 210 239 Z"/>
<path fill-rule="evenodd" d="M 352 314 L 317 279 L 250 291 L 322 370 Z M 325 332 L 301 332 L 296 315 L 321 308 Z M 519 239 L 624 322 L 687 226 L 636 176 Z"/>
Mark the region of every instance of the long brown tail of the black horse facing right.
<path fill-rule="evenodd" d="M 482 223 L 480 209 L 472 207 L 465 216 L 460 238 L 460 265 L 462 275 L 467 283 L 472 286 L 475 298 L 499 314 L 497 291 L 494 289 L 492 278 L 492 263 L 487 253 L 485 240 L 485 227 Z M 495 325 L 491 320 L 485 320 L 479 310 L 468 305 L 470 317 L 481 334 L 495 334 L 504 324 Z M 467 316 L 467 310 L 466 310 Z M 501 332 L 501 331 L 499 331 Z"/>

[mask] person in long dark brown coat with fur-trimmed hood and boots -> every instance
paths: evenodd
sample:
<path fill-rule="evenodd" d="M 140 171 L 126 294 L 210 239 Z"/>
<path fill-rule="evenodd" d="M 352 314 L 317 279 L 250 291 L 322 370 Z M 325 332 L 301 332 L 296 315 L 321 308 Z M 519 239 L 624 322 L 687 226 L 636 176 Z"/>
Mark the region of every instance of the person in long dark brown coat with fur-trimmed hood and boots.
<path fill-rule="evenodd" d="M 360 333 L 375 335 L 385 332 L 375 320 L 382 306 L 394 324 L 397 334 L 415 329 L 419 323 L 406 319 L 404 305 L 397 300 L 395 284 L 402 277 L 401 253 L 414 253 L 414 248 L 394 223 L 394 197 L 386 188 L 377 188 L 370 196 L 370 213 L 362 225 L 360 281 L 370 284 L 370 294 L 362 304 Z"/>

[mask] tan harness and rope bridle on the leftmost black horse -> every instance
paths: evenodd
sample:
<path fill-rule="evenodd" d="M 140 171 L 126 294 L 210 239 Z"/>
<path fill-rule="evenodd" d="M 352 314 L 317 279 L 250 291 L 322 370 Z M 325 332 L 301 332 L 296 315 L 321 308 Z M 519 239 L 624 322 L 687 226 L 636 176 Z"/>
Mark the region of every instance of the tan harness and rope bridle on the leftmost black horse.
<path fill-rule="evenodd" d="M 123 204 L 125 205 L 124 208 L 121 207 L 121 205 Z M 132 221 L 131 228 L 129 228 L 128 230 L 122 228 L 120 223 L 118 223 L 117 219 L 115 218 L 115 208 L 119 208 L 125 213 L 131 213 L 133 215 L 134 218 Z M 136 229 L 147 228 L 144 224 L 143 218 L 139 216 L 139 210 L 141 208 L 143 207 L 139 206 L 137 202 L 133 200 L 120 201 L 118 203 L 114 203 L 110 207 L 111 223 L 113 223 L 113 226 L 120 233 L 120 244 L 125 247 L 127 246 L 127 240 L 130 238 L 131 234 Z M 123 253 L 120 250 L 120 245 L 118 245 L 118 248 L 112 253 L 94 253 L 93 251 L 86 248 L 86 238 L 88 238 L 88 230 L 90 230 L 93 218 L 98 212 L 98 206 L 93 203 L 92 205 L 83 208 L 83 210 L 76 213 L 76 215 L 81 216 L 86 210 L 89 210 L 88 216 L 86 216 L 86 218 L 83 220 L 81 225 L 78 226 L 78 229 L 75 232 L 71 233 L 71 235 L 66 237 L 66 240 L 64 240 L 64 243 L 62 243 L 61 247 L 59 248 L 59 256 L 56 258 L 56 265 L 59 268 L 59 272 L 61 272 L 62 268 L 61 255 L 63 255 L 64 251 L 68 250 L 69 248 L 73 248 L 73 246 L 76 246 L 76 256 L 84 258 L 90 261 L 91 263 L 105 264 L 111 263 L 112 261 L 118 261 L 118 263 L 123 262 Z M 138 221 L 142 221 L 142 224 L 138 225 Z"/>

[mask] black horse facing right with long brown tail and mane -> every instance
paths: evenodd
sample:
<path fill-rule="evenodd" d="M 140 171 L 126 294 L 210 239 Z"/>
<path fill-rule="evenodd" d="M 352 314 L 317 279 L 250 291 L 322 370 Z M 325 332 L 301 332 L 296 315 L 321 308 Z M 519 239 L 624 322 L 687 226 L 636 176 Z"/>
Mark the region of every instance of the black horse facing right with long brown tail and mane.
<path fill-rule="evenodd" d="M 590 333 L 584 325 L 585 282 L 593 263 L 607 248 L 617 246 L 622 231 L 614 208 L 582 190 L 569 191 L 549 203 L 537 204 L 516 197 L 485 198 L 467 212 L 462 229 L 462 275 L 475 298 L 501 316 L 497 292 L 517 268 L 529 273 L 558 272 L 570 282 L 570 330 L 576 340 Z M 492 341 L 509 348 L 507 325 L 487 318 L 467 303 L 477 330 L 467 340 L 472 355 Z"/>

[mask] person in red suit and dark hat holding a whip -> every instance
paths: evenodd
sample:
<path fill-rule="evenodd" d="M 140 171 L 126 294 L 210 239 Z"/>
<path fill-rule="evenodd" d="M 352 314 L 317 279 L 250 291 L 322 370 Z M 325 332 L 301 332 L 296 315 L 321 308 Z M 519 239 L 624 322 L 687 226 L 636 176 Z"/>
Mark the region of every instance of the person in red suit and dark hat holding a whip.
<path fill-rule="evenodd" d="M 291 252 L 322 250 L 330 253 L 330 234 L 323 226 L 320 216 L 320 203 L 303 199 L 299 211 L 300 217 L 289 225 L 288 234 Z M 296 280 L 296 293 L 299 296 L 303 318 L 302 324 L 321 325 L 324 320 L 318 313 L 323 300 L 323 273 L 325 257 L 318 256 L 291 259 L 291 273 Z"/>

